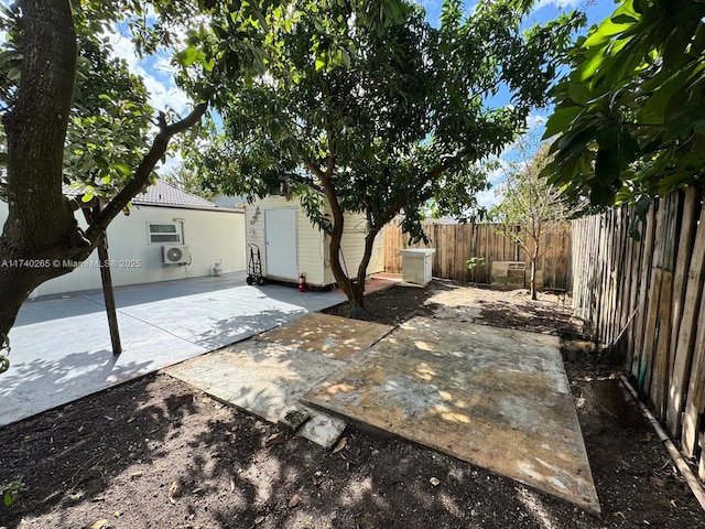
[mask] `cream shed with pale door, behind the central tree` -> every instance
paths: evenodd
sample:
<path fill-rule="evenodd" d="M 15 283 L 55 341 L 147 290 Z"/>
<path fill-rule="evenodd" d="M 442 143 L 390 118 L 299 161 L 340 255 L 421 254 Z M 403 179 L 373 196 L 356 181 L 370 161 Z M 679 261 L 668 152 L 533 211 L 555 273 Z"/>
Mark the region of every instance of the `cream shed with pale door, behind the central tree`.
<path fill-rule="evenodd" d="M 327 202 L 324 213 L 329 214 Z M 256 201 L 247 205 L 245 222 L 247 242 L 260 249 L 262 274 L 268 279 L 295 282 L 303 273 L 313 287 L 336 282 L 330 270 L 329 238 L 308 220 L 299 198 L 269 195 Z M 348 277 L 357 276 L 366 234 L 365 215 L 346 214 L 340 257 Z M 384 234 L 380 231 L 367 273 L 382 271 Z"/>

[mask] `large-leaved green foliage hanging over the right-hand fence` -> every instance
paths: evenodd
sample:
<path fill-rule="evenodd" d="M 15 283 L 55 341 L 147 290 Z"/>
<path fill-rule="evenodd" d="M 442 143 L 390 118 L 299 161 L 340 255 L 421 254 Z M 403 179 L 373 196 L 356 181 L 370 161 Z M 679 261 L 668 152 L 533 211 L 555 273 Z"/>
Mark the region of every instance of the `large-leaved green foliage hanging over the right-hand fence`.
<path fill-rule="evenodd" d="M 572 52 L 544 174 L 596 205 L 703 182 L 705 2 L 623 0 Z"/>

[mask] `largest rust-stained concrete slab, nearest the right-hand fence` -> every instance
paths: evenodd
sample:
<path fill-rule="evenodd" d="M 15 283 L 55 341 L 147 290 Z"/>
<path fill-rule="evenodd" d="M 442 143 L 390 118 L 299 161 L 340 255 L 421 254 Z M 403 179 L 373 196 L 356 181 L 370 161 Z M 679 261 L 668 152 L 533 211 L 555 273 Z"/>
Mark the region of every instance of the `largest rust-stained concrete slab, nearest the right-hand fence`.
<path fill-rule="evenodd" d="M 303 401 L 599 512 L 554 336 L 414 317 Z"/>

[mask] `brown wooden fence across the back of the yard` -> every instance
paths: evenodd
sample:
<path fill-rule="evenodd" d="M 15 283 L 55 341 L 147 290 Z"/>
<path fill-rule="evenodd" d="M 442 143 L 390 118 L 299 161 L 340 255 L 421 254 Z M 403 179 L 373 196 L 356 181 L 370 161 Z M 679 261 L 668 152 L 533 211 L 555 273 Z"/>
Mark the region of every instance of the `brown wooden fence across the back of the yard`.
<path fill-rule="evenodd" d="M 427 247 L 436 250 L 432 260 L 432 273 L 436 278 L 489 284 L 492 261 L 524 261 L 527 270 L 531 264 L 519 245 L 498 234 L 497 226 L 492 224 L 426 224 L 423 230 L 431 239 Z M 547 288 L 567 290 L 571 273 L 570 229 L 550 235 L 545 244 L 549 251 L 538 260 L 536 267 L 542 271 L 543 284 Z M 425 248 L 425 246 L 422 242 L 409 245 L 409 236 L 402 234 L 399 226 L 387 226 L 384 228 L 386 271 L 401 273 L 399 250 L 404 248 Z M 481 257 L 485 262 L 468 270 L 465 262 L 471 257 Z"/>

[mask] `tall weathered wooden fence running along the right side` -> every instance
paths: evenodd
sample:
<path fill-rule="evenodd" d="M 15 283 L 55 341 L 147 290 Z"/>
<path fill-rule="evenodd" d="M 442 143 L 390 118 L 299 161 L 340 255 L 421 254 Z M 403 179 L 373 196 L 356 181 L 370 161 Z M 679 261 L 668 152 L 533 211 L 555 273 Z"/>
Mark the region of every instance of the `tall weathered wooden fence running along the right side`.
<path fill-rule="evenodd" d="M 573 304 L 592 337 L 626 368 L 682 451 L 705 443 L 705 208 L 702 190 L 573 223 Z M 699 456 L 705 479 L 705 455 Z"/>

